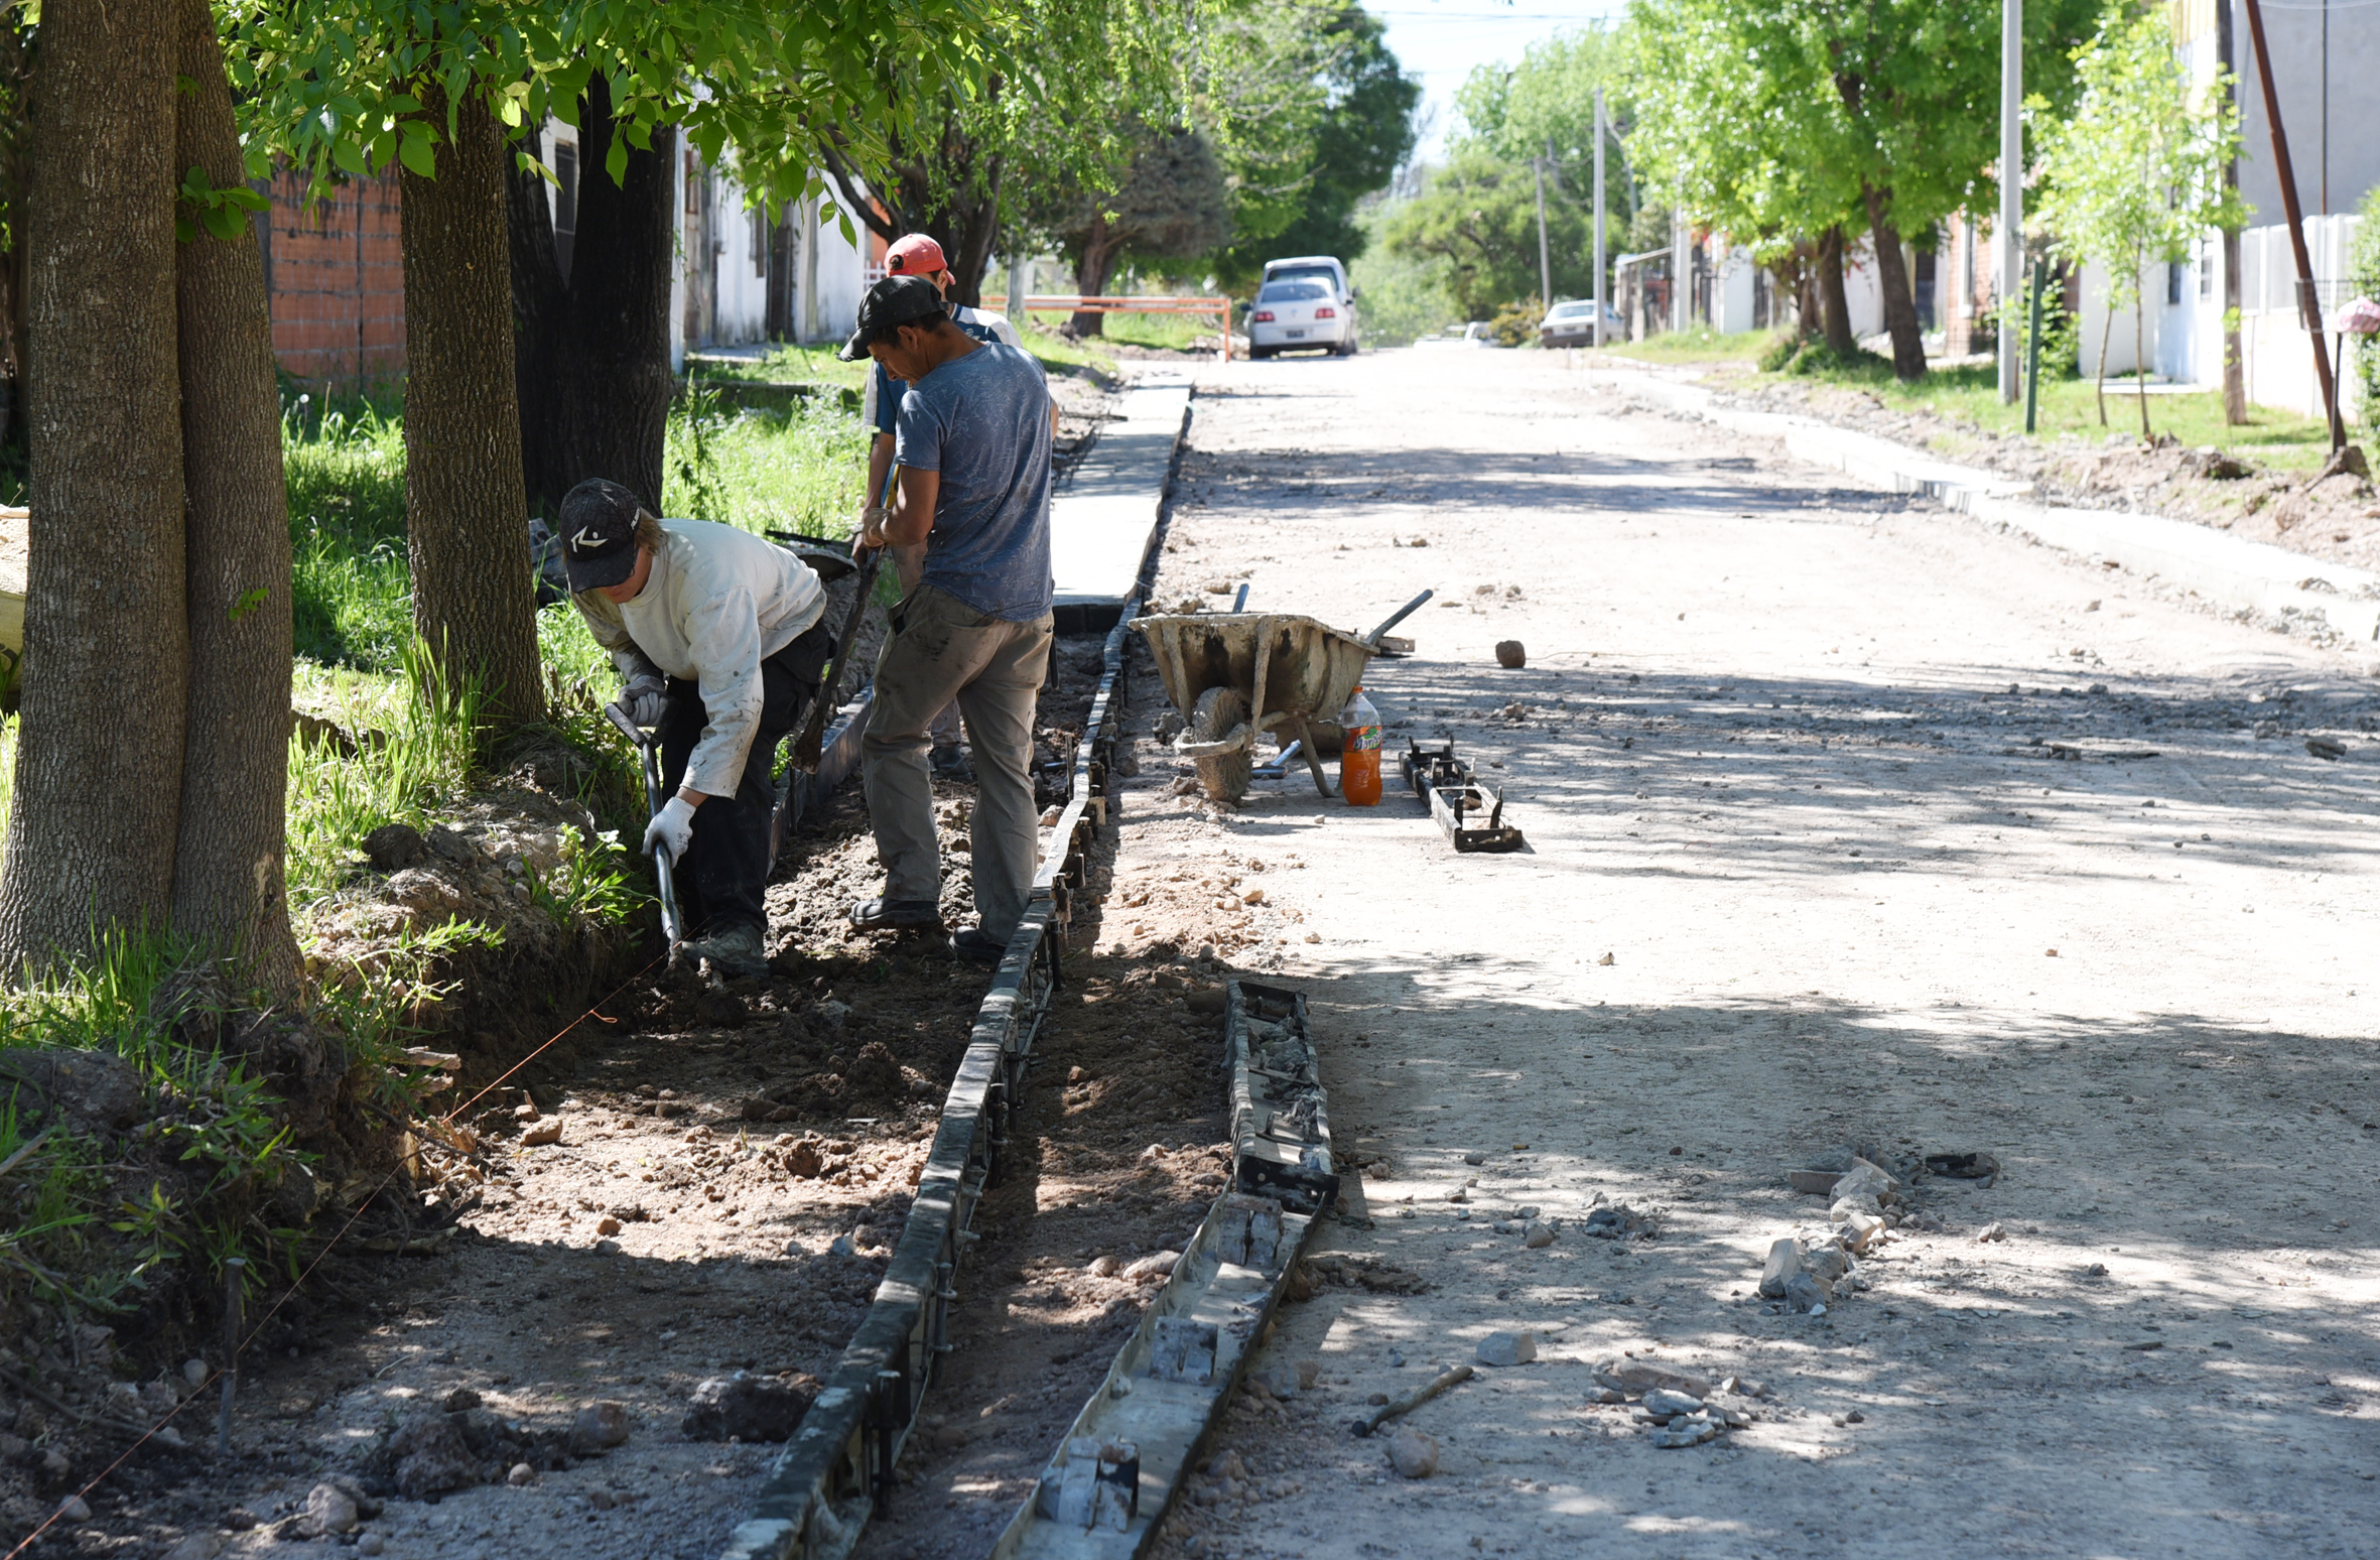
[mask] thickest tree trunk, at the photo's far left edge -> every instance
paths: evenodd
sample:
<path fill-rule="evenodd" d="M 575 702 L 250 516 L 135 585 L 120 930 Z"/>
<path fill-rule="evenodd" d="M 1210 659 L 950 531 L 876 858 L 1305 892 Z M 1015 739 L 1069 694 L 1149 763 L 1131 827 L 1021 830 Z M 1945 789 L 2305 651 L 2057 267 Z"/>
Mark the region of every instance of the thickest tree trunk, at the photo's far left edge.
<path fill-rule="evenodd" d="M 33 81 L 33 533 L 0 967 L 174 898 L 190 629 L 174 372 L 174 0 L 50 0 Z"/>

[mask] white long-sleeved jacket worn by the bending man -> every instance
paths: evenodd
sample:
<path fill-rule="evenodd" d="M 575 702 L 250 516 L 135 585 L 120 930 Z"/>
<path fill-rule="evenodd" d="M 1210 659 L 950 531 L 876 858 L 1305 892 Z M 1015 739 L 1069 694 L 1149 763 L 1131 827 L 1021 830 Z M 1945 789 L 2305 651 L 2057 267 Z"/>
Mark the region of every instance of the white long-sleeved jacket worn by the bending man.
<path fill-rule="evenodd" d="M 702 686 L 707 722 L 685 786 L 735 795 L 759 729 L 759 664 L 816 626 L 826 591 L 800 557 L 750 531 L 664 519 L 669 548 L 635 600 L 602 591 L 571 600 L 624 679 L 647 669 Z"/>

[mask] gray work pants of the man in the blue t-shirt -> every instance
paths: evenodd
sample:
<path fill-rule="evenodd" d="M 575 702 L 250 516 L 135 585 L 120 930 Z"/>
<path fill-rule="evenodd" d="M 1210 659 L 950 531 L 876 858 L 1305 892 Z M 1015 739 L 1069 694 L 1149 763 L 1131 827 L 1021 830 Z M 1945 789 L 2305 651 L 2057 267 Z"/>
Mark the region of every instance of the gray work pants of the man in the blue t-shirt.
<path fill-rule="evenodd" d="M 876 824 L 888 900 L 942 898 L 926 726 L 957 698 L 976 750 L 976 815 L 969 826 L 976 915 L 997 938 L 1016 931 L 1038 865 L 1033 705 L 1050 669 L 1050 636 L 1047 612 L 1023 624 L 1007 622 L 935 586 L 919 586 L 892 610 L 862 738 L 869 822 Z"/>

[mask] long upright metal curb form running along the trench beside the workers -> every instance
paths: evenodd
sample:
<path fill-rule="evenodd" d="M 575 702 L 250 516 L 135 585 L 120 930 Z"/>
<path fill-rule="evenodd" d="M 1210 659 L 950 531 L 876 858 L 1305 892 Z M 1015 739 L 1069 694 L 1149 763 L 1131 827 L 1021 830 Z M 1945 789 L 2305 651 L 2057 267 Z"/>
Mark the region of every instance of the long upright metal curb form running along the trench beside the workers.
<path fill-rule="evenodd" d="M 959 1258 L 978 1238 L 971 1229 L 976 1203 L 1000 1179 L 1026 1062 L 1059 986 L 1059 950 L 1073 924 L 1073 903 L 1088 888 L 1083 865 L 1107 824 L 1107 772 L 1123 703 L 1123 636 L 1142 600 L 1145 588 L 1138 588 L 1107 636 L 1100 691 L 1073 750 L 1066 807 L 1042 836 L 1033 898 L 976 1012 L 959 1074 L 942 1100 L 942 1127 L 876 1300 L 745 1520 L 728 1534 L 721 1560 L 840 1560 L 869 1517 L 892 1498 L 892 1469 L 916 1427 L 935 1362 L 952 1348 L 947 1327 L 950 1303 L 959 1298 Z"/>

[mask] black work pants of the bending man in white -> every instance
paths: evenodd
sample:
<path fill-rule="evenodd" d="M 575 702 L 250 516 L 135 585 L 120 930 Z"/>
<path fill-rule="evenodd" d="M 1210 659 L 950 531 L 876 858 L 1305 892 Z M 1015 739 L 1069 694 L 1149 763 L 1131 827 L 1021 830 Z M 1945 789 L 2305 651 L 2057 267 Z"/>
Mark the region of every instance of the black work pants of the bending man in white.
<path fill-rule="evenodd" d="M 776 745 L 809 715 L 819 695 L 819 672 L 835 636 L 819 619 L 814 629 L 759 664 L 762 707 L 745 755 L 743 784 L 735 795 L 714 795 L 695 807 L 695 838 L 678 862 L 678 919 L 685 936 L 712 936 L 733 926 L 769 929 L 769 822 L 776 815 L 776 786 L 769 769 Z M 662 715 L 662 795 L 676 795 L 685 779 L 685 760 L 702 741 L 709 712 L 702 707 L 702 684 L 669 679 L 669 707 Z"/>

